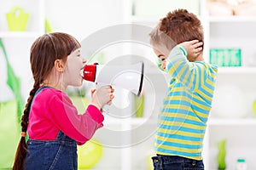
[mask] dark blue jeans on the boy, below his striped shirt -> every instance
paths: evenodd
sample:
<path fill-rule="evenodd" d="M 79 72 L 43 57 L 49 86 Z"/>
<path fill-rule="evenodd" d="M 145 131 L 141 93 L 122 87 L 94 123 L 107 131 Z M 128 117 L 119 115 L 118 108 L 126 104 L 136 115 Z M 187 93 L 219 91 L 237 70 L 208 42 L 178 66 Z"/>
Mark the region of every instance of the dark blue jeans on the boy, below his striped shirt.
<path fill-rule="evenodd" d="M 181 156 L 153 156 L 154 170 L 204 170 L 203 161 Z"/>

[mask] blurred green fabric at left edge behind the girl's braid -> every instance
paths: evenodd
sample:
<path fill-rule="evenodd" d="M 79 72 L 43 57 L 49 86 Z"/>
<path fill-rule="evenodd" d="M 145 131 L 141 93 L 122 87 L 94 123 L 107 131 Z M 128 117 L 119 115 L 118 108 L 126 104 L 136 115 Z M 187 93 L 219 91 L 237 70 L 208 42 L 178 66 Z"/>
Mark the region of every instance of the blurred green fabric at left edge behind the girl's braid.
<path fill-rule="evenodd" d="M 11 169 L 20 140 L 20 117 L 23 113 L 24 103 L 20 94 L 20 79 L 15 75 L 15 71 L 9 63 L 1 38 L 0 48 L 3 50 L 7 65 L 6 83 L 15 94 L 15 99 L 0 102 L 0 169 Z"/>

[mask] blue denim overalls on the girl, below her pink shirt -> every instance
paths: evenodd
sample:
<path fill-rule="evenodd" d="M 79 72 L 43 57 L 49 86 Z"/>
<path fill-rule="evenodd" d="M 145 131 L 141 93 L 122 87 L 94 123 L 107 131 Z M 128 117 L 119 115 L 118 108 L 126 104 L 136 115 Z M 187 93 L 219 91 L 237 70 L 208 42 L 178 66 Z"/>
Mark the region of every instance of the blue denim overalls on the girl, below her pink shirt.
<path fill-rule="evenodd" d="M 77 142 L 59 131 L 55 140 L 27 140 L 24 170 L 77 170 Z"/>

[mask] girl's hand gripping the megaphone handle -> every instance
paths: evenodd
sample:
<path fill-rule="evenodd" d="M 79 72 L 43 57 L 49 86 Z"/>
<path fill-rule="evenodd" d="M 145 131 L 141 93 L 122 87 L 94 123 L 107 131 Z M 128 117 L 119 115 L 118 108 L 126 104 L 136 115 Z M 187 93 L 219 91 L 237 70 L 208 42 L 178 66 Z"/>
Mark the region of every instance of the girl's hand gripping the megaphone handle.
<path fill-rule="evenodd" d="M 112 104 L 113 92 L 114 89 L 109 85 L 91 90 L 91 105 L 95 105 L 101 111 L 103 105 Z"/>

